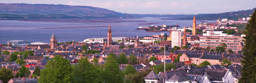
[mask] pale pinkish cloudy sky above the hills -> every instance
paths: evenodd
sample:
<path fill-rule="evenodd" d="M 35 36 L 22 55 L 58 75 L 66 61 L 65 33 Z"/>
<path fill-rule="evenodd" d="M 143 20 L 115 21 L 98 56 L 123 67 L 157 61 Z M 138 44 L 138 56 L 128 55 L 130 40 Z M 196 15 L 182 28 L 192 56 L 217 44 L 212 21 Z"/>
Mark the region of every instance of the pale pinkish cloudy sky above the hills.
<path fill-rule="evenodd" d="M 92 6 L 133 14 L 222 13 L 256 8 L 256 0 L 0 0 L 0 3 Z"/>

